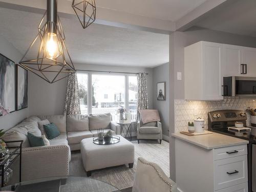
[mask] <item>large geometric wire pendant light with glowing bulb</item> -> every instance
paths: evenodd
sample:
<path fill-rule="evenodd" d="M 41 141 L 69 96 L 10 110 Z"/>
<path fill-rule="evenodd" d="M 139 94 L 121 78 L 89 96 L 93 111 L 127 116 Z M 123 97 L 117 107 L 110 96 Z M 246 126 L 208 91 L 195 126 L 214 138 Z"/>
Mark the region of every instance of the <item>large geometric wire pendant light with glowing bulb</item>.
<path fill-rule="evenodd" d="M 57 15 L 57 0 L 47 0 L 47 11 L 38 26 L 38 34 L 19 65 L 49 83 L 76 72 Z"/>

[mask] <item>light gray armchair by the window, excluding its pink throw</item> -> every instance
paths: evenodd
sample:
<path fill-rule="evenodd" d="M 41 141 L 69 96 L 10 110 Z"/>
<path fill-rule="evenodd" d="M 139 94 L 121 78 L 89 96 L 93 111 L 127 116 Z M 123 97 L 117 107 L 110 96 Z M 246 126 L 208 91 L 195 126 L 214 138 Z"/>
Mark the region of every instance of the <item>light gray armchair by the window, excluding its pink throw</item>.
<path fill-rule="evenodd" d="M 139 115 L 139 114 L 138 114 Z M 137 123 L 137 140 L 140 143 L 140 139 L 159 139 L 159 143 L 162 143 L 162 123 L 160 121 L 148 122 L 143 124 L 139 115 L 139 121 Z"/>

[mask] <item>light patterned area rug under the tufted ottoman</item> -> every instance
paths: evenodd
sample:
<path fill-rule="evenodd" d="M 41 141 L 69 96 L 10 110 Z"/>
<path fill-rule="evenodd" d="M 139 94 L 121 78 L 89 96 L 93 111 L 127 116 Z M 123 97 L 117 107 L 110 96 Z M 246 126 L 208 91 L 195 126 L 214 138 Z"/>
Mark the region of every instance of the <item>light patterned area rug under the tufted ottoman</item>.
<path fill-rule="evenodd" d="M 109 183 L 118 189 L 131 187 L 133 186 L 138 157 L 143 157 L 148 161 L 157 163 L 169 177 L 168 142 L 162 141 L 162 144 L 158 144 L 155 140 L 141 140 L 140 144 L 138 144 L 137 141 L 132 141 L 132 143 L 135 146 L 135 163 L 133 168 L 129 168 L 128 165 L 121 165 L 94 170 L 91 177 Z M 116 158 L 118 158 L 118 154 L 116 155 Z M 79 151 L 72 152 L 70 176 L 87 177 Z"/>

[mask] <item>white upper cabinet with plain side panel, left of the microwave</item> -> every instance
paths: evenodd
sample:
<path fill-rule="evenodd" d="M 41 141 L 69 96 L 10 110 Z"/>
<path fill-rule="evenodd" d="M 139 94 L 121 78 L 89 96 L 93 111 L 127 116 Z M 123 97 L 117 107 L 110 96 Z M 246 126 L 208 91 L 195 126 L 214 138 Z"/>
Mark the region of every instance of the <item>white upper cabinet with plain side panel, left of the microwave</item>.
<path fill-rule="evenodd" d="M 221 100 L 223 44 L 199 41 L 185 47 L 185 99 Z"/>

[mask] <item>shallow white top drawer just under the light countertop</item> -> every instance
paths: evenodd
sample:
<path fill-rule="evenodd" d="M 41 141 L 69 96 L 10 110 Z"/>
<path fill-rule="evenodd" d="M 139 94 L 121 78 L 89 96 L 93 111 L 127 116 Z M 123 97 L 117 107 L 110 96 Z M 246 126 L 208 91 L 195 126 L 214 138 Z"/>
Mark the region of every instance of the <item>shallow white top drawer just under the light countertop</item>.
<path fill-rule="evenodd" d="M 247 145 L 229 146 L 216 148 L 214 150 L 214 160 L 237 157 L 241 155 L 247 155 Z"/>

